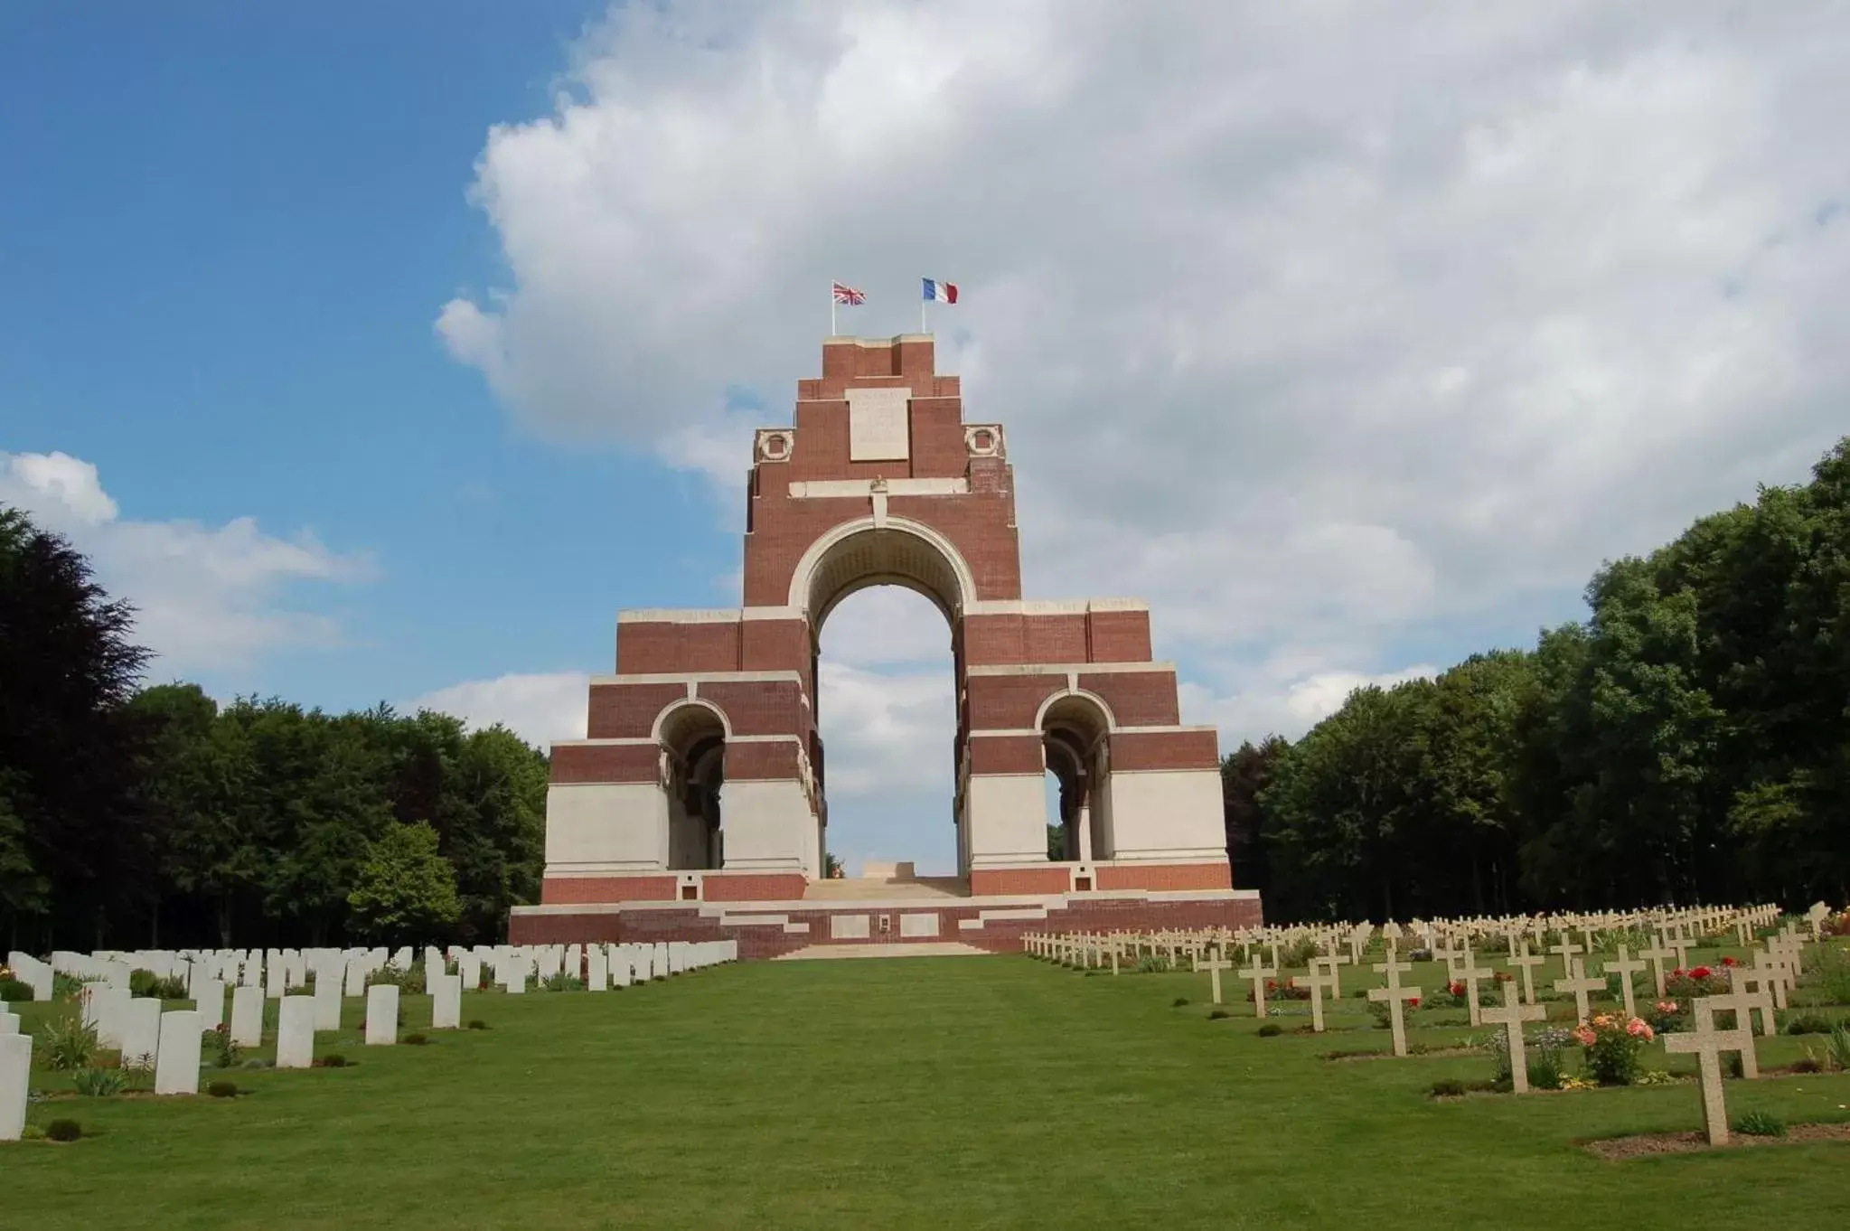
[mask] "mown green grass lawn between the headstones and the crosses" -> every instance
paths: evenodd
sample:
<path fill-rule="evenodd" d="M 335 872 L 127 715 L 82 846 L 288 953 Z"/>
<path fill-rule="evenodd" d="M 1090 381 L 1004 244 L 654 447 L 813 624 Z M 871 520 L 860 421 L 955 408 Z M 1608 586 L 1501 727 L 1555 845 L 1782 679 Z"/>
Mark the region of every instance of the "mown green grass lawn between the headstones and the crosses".
<path fill-rule="evenodd" d="M 1206 976 L 1027 957 L 755 963 L 623 992 L 470 994 L 464 1020 L 492 1029 L 427 1048 L 359 1046 L 350 1001 L 318 1051 L 353 1068 L 240 1070 L 239 1100 L 37 1103 L 33 1124 L 76 1116 L 96 1137 L 0 1146 L 0 1211 L 31 1231 L 1850 1220 L 1850 1146 L 1606 1163 L 1572 1144 L 1700 1127 L 1691 1085 L 1432 1101 L 1434 1079 L 1487 1077 L 1489 1059 L 1330 1063 L 1388 1046 L 1360 1001 L 1321 1038 L 1260 1038 L 1247 1005 L 1210 1020 L 1206 998 Z M 43 1013 L 15 1009 L 28 1027 Z M 403 1020 L 427 1022 L 429 1001 L 407 996 Z M 1761 1063 L 1802 1044 L 1767 1040 Z M 1846 1120 L 1850 1076 L 1732 1081 L 1728 1105 Z"/>

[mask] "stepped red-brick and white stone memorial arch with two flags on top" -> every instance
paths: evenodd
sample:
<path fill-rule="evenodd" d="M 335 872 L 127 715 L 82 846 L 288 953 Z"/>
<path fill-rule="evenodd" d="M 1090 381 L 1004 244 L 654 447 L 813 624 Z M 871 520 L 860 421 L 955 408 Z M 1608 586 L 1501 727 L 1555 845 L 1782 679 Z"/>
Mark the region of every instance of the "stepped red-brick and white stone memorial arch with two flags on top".
<path fill-rule="evenodd" d="M 931 335 L 827 339 L 794 424 L 760 428 L 751 461 L 744 602 L 618 615 L 586 739 L 551 750 L 544 890 L 514 909 L 516 942 L 736 937 L 773 955 L 1260 920 L 1232 889 L 1217 735 L 1182 724 L 1149 607 L 1023 600 L 1006 433 L 964 422 Z M 918 591 L 951 631 L 956 739 L 919 755 L 956 766 L 958 876 L 929 896 L 821 881 L 818 644 L 870 585 Z"/>

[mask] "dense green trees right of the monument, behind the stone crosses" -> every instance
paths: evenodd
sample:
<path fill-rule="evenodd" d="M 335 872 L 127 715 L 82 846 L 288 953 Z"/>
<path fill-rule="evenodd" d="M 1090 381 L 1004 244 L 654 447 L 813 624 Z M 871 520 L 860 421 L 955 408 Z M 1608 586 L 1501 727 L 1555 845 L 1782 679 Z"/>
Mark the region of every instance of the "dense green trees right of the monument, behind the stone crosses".
<path fill-rule="evenodd" d="M 1273 920 L 1850 900 L 1850 437 L 1585 598 L 1225 757 L 1234 883 Z"/>

